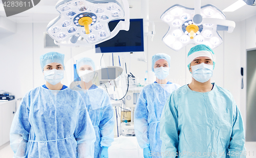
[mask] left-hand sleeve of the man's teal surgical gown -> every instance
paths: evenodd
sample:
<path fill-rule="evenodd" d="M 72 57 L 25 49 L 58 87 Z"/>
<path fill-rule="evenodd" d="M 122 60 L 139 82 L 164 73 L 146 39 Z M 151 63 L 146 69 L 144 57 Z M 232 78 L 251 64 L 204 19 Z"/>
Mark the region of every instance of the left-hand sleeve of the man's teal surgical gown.
<path fill-rule="evenodd" d="M 160 119 L 161 152 L 164 157 L 175 157 L 178 148 L 178 110 L 173 93 L 167 100 Z"/>

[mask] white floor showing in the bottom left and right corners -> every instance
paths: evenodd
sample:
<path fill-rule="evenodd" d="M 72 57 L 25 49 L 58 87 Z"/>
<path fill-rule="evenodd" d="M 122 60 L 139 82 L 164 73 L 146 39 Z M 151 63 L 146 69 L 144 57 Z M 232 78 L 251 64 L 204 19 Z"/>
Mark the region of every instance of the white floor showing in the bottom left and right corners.
<path fill-rule="evenodd" d="M 247 156 L 246 158 L 256 158 L 256 142 L 246 142 L 245 143 Z M 249 155 L 250 154 L 250 155 Z M 0 150 L 0 158 L 12 158 L 13 152 L 9 143 L 1 146 Z"/>

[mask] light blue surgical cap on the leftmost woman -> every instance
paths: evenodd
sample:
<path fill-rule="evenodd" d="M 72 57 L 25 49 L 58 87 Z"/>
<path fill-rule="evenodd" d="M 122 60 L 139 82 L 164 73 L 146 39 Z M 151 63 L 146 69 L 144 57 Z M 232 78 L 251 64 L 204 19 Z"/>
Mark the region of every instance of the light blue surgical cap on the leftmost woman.
<path fill-rule="evenodd" d="M 42 71 L 44 71 L 44 68 L 47 64 L 53 63 L 53 62 L 60 63 L 65 70 L 64 57 L 65 57 L 64 54 L 57 53 L 57 52 L 49 52 L 49 53 L 41 55 L 40 56 L 40 64 L 41 64 Z"/>

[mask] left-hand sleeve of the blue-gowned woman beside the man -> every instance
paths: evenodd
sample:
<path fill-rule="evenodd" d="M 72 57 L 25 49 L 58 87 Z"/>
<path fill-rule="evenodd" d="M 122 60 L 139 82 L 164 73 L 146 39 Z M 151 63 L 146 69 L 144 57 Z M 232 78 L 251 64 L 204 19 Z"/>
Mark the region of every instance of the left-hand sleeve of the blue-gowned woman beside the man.
<path fill-rule="evenodd" d="M 148 134 L 148 122 L 147 122 L 147 101 L 144 89 L 142 89 L 139 99 L 137 101 L 135 112 L 134 112 L 134 128 L 137 141 L 140 147 L 143 149 L 149 147 L 150 143 L 147 137 Z"/>

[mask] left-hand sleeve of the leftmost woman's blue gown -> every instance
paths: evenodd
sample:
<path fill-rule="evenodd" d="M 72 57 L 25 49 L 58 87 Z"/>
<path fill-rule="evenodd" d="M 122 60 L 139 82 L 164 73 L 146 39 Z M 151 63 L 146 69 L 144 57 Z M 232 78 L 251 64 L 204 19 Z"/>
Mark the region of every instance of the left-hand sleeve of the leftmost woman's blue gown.
<path fill-rule="evenodd" d="M 27 93 L 20 102 L 19 108 L 12 121 L 10 130 L 10 146 L 14 152 L 13 157 L 25 157 L 31 125 L 29 123 L 30 97 Z"/>

